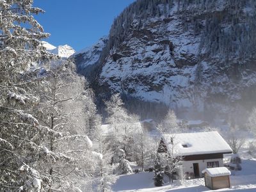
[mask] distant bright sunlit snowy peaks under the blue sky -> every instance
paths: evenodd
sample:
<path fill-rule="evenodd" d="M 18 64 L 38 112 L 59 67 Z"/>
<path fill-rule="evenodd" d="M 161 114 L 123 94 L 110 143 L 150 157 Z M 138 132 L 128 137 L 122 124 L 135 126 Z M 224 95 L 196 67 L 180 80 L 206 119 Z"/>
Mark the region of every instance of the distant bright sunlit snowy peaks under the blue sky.
<path fill-rule="evenodd" d="M 76 51 L 69 45 L 60 45 L 55 47 L 54 45 L 49 44 L 48 42 L 42 42 L 47 51 L 57 54 L 61 58 L 69 58 Z"/>

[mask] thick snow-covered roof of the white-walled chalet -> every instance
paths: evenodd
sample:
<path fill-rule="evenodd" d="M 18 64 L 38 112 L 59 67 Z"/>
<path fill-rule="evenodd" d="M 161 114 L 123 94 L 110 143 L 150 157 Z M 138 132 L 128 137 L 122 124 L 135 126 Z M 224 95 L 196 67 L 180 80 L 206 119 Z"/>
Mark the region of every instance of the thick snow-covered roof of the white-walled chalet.
<path fill-rule="evenodd" d="M 217 131 L 163 134 L 163 139 L 169 152 L 172 149 L 179 156 L 232 152 Z"/>

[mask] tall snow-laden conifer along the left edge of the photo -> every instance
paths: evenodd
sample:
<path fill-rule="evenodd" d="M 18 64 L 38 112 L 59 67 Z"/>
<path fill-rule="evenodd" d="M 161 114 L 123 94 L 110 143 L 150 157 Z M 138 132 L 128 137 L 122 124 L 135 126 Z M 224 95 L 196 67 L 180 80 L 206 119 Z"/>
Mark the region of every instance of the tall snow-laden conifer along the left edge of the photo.
<path fill-rule="evenodd" d="M 38 191 L 43 180 L 49 182 L 35 169 L 43 151 L 38 132 L 49 130 L 40 127 L 33 114 L 38 79 L 28 69 L 52 55 L 40 42 L 49 34 L 33 17 L 44 11 L 32 4 L 0 1 L 0 191 Z"/>

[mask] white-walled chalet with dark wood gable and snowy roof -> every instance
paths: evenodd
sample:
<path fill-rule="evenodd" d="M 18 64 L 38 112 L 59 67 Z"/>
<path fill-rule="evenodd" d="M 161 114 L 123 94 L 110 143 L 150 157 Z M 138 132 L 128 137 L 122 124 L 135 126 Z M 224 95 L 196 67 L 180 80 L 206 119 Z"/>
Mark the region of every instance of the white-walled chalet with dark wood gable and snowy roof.
<path fill-rule="evenodd" d="M 205 168 L 223 167 L 223 154 L 232 149 L 217 131 L 163 134 L 159 153 L 182 157 L 182 169 L 191 177 L 202 177 Z"/>

